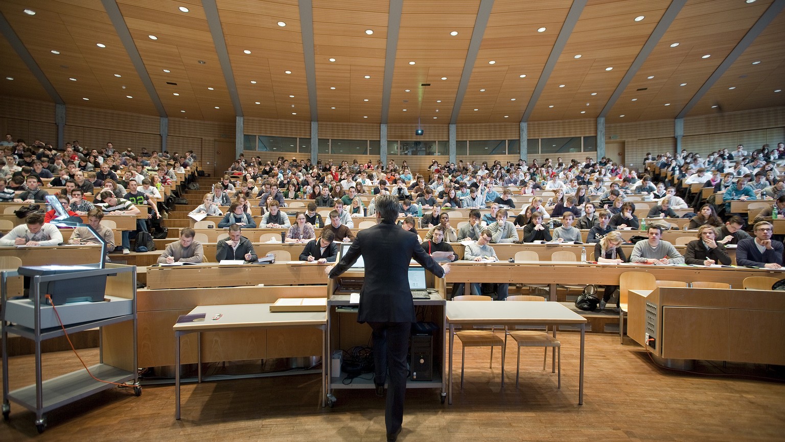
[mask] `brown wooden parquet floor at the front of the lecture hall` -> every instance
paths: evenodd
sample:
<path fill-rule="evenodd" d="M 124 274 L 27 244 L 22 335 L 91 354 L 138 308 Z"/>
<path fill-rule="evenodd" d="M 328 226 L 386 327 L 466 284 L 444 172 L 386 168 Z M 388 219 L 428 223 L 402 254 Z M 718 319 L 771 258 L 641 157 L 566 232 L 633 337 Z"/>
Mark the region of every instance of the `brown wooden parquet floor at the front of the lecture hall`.
<path fill-rule="evenodd" d="M 562 333 L 560 340 L 561 389 L 556 374 L 541 370 L 539 349 L 524 350 L 525 371 L 516 389 L 515 347 L 509 345 L 504 389 L 499 387 L 498 352 L 489 371 L 487 349 L 468 349 L 466 385 L 459 391 L 457 348 L 453 404 L 440 404 L 435 389 L 409 390 L 399 440 L 785 439 L 783 367 L 699 363 L 700 375 L 668 371 L 655 367 L 637 344 L 619 345 L 618 336 L 590 334 L 586 392 L 579 406 L 579 334 Z M 87 360 L 97 358 L 94 349 L 80 352 Z M 49 354 L 45 360 L 50 376 L 79 367 L 71 353 Z M 17 356 L 9 365 L 12 389 L 33 382 L 31 356 Z M 221 368 L 210 369 L 216 370 Z M 35 415 L 12 403 L 9 422 L 0 423 L 0 440 L 385 440 L 383 399 L 371 390 L 336 395 L 334 408 L 319 406 L 317 374 L 188 384 L 178 422 L 173 385 L 145 386 L 141 397 L 115 389 L 49 413 L 49 427 L 40 436 Z"/>

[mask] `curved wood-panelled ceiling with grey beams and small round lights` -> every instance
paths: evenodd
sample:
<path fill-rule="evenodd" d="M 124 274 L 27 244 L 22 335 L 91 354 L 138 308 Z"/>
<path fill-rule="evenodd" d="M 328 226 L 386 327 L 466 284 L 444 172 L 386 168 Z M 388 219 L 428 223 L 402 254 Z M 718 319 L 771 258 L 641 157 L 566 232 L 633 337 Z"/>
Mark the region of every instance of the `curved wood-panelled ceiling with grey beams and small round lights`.
<path fill-rule="evenodd" d="M 222 122 L 767 108 L 785 104 L 783 2 L 4 0 L 0 96 Z"/>

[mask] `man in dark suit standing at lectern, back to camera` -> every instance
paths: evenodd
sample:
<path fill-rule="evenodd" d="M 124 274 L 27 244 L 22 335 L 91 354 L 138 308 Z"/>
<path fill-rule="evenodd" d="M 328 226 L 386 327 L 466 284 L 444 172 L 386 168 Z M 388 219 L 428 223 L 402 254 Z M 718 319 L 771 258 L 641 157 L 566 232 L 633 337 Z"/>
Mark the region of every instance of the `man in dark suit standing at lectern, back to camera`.
<path fill-rule="evenodd" d="M 378 224 L 357 233 L 341 262 L 325 269 L 327 276 L 341 275 L 360 255 L 365 263 L 365 279 L 360 290 L 357 322 L 367 322 L 373 330 L 374 382 L 377 394 L 384 393 L 389 369 L 389 391 L 385 422 L 387 440 L 395 441 L 403 423 L 403 397 L 406 393 L 407 351 L 411 323 L 415 321 L 414 302 L 407 272 L 411 258 L 442 278 L 450 265 L 440 266 L 420 246 L 419 238 L 395 224 L 400 211 L 392 195 L 376 197 Z"/>

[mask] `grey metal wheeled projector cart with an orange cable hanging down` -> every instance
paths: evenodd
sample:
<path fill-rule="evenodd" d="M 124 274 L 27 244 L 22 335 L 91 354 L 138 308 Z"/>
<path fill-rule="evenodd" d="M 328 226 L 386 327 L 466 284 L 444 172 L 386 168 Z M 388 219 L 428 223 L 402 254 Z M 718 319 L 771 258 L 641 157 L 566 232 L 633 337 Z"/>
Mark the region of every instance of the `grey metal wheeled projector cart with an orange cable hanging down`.
<path fill-rule="evenodd" d="M 75 290 L 79 290 L 80 279 L 108 277 L 106 294 L 110 301 L 78 302 L 56 305 L 57 312 L 64 321 L 68 334 L 100 327 L 100 360 L 89 367 L 89 371 L 99 379 L 117 382 L 133 389 L 135 396 L 141 395 L 141 385 L 137 374 L 137 293 L 136 266 L 107 265 L 108 268 L 89 269 L 51 276 L 33 276 L 30 283 L 29 299 L 8 299 L 9 283 L 18 284 L 18 271 L 0 273 L 2 287 L 2 378 L 3 400 L 2 415 L 9 419 L 10 401 L 35 411 L 35 426 L 38 433 L 46 429 L 46 413 L 55 408 L 71 404 L 83 397 L 93 395 L 104 389 L 114 388 L 114 384 L 99 382 L 82 370 L 42 380 L 41 342 L 64 335 L 63 328 L 54 317 L 53 307 L 42 304 L 42 285 L 61 279 L 72 279 Z M 70 312 L 69 312 L 70 310 Z M 77 322 L 72 318 L 79 318 Z M 69 320 L 68 318 L 71 318 Z M 8 335 L 16 334 L 35 342 L 35 384 L 9 391 L 8 379 Z M 130 349 L 127 347 L 130 346 Z M 123 349 L 121 347 L 126 347 Z"/>

